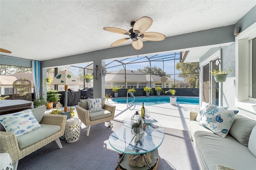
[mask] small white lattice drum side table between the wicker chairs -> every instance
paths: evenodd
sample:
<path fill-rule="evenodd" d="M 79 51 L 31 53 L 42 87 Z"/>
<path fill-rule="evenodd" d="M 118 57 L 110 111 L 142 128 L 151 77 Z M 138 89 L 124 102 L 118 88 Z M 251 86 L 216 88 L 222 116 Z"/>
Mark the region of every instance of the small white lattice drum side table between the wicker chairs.
<path fill-rule="evenodd" d="M 80 124 L 78 118 L 71 118 L 66 121 L 65 138 L 68 143 L 76 142 L 80 136 Z"/>

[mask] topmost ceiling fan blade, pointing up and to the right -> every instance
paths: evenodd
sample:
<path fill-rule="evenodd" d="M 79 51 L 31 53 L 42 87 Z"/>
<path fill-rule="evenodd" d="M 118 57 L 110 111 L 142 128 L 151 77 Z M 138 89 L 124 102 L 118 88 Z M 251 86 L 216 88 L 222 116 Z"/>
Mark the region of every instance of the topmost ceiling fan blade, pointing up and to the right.
<path fill-rule="evenodd" d="M 140 33 L 143 33 L 150 28 L 152 23 L 153 20 L 150 17 L 144 16 L 134 23 L 133 32 L 135 33 L 135 31 L 139 31 Z"/>

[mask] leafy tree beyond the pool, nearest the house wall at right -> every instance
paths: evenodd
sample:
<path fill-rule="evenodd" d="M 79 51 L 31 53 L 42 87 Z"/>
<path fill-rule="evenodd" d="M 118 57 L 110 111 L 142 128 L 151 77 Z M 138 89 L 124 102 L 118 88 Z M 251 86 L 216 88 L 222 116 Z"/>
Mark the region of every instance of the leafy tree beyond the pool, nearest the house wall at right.
<path fill-rule="evenodd" d="M 196 80 L 199 77 L 199 73 L 195 73 L 194 69 L 196 67 L 199 67 L 199 62 L 194 63 L 182 63 L 179 62 L 176 64 L 176 69 L 181 71 L 181 74 L 178 75 L 178 77 L 181 77 L 184 79 L 184 82 L 188 84 L 189 88 L 195 88 L 196 86 L 199 87 L 198 84 L 196 84 Z"/>

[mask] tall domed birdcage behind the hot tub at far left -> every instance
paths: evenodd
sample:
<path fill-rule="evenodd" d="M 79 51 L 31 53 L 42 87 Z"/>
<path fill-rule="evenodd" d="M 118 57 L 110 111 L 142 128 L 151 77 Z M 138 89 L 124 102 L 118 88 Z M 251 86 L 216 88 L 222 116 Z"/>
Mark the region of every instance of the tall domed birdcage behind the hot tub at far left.
<path fill-rule="evenodd" d="M 16 80 L 12 84 L 13 99 L 31 101 L 31 82 L 26 79 Z"/>

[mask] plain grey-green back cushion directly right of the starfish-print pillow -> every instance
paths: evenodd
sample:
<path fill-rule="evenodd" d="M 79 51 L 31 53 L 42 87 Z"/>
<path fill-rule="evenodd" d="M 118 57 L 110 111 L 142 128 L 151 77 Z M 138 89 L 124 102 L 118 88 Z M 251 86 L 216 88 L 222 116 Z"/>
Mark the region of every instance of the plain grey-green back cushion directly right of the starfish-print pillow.
<path fill-rule="evenodd" d="M 248 119 L 241 115 L 236 115 L 235 120 L 229 130 L 231 134 L 238 142 L 248 147 L 248 141 L 252 128 L 256 125 L 256 121 Z"/>

